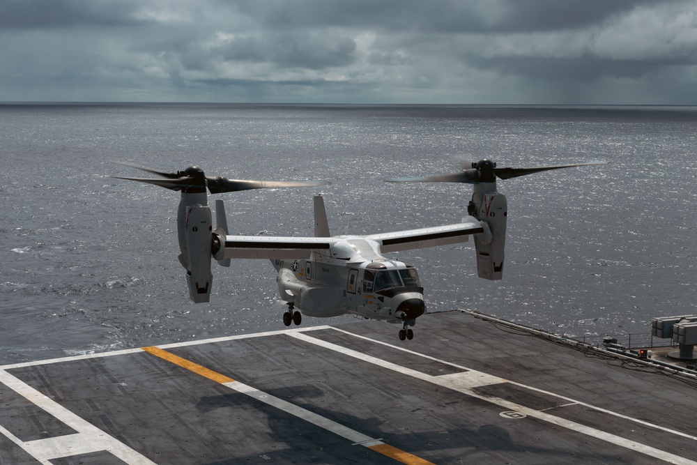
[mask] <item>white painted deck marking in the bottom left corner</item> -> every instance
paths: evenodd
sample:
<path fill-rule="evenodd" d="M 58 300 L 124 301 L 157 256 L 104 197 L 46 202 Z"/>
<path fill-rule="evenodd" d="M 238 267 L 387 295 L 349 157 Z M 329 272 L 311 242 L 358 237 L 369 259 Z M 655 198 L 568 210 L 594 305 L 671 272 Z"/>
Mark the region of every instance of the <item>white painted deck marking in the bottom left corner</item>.
<path fill-rule="evenodd" d="M 17 394 L 29 400 L 29 402 L 36 404 L 36 406 L 47 411 L 55 418 L 77 431 L 77 434 L 36 439 L 35 441 L 22 441 L 7 429 L 0 426 L 0 433 L 7 436 L 13 443 L 19 445 L 41 464 L 51 465 L 51 462 L 49 462 L 51 459 L 106 450 L 123 460 L 126 464 L 156 465 L 155 462 L 152 462 L 139 452 L 128 447 L 128 445 L 109 436 L 109 434 L 95 427 L 87 420 L 75 415 L 75 413 L 72 413 L 66 409 L 66 407 L 49 399 L 49 397 L 43 395 L 38 390 L 32 388 L 24 383 L 24 381 L 17 379 L 17 377 L 9 374 L 3 369 L 0 369 L 0 383 L 3 383 L 8 388 L 17 392 Z"/>

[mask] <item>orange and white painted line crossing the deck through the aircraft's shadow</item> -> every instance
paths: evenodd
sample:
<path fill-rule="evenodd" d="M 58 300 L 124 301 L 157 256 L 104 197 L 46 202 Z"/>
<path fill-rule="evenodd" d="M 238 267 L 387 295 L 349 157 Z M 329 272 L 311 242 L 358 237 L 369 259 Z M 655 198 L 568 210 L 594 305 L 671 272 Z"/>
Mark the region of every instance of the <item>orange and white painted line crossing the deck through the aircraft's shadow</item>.
<path fill-rule="evenodd" d="M 196 374 L 205 376 L 206 378 L 216 381 L 217 383 L 220 383 L 223 386 L 226 386 L 227 388 L 236 390 L 237 392 L 240 392 L 242 394 L 253 397 L 256 400 L 259 400 L 260 402 L 263 402 L 270 406 L 274 406 L 277 409 L 280 409 L 286 413 L 290 413 L 291 415 L 296 416 L 298 418 L 302 418 L 302 420 L 310 422 L 313 425 L 319 426 L 323 429 L 326 429 L 329 432 L 332 432 L 334 434 L 342 436 L 345 439 L 348 439 L 355 445 L 363 445 L 370 450 L 374 450 L 375 452 L 385 455 L 386 457 L 395 459 L 397 460 L 397 462 L 401 462 L 407 465 L 435 465 L 432 462 L 428 462 L 427 460 L 424 460 L 413 454 L 404 452 L 404 450 L 400 450 L 395 447 L 392 447 L 391 445 L 385 444 L 383 443 L 383 441 L 380 441 L 379 439 L 371 438 L 366 434 L 362 434 L 361 432 L 355 431 L 355 429 L 351 429 L 345 425 L 342 425 L 341 423 L 335 422 L 334 420 L 330 420 L 329 418 L 325 418 L 307 409 L 303 409 L 302 407 L 299 407 L 295 404 L 291 404 L 290 402 L 287 402 L 283 399 L 279 399 L 279 397 L 269 395 L 266 392 L 263 392 L 262 390 L 256 389 L 245 383 L 235 381 L 231 379 L 229 376 L 225 376 L 223 374 L 214 372 L 213 370 L 198 365 L 197 363 L 193 363 L 190 360 L 186 360 L 185 358 L 176 356 L 174 355 L 174 353 L 164 351 L 159 347 L 144 347 L 143 350 L 153 354 L 154 356 L 158 356 L 164 360 L 167 360 L 168 362 L 179 365 L 180 367 L 189 369 L 190 371 Z"/>

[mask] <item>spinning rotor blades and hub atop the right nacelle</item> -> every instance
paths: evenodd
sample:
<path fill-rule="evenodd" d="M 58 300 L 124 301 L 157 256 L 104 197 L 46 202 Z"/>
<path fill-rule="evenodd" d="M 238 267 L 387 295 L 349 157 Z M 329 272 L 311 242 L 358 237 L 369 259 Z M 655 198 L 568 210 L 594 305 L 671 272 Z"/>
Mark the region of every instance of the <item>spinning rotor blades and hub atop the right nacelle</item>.
<path fill-rule="evenodd" d="M 551 169 L 584 167 L 588 165 L 606 165 L 608 162 L 588 162 L 577 163 L 575 165 L 556 165 L 551 167 L 534 167 L 534 168 L 497 168 L 496 163 L 484 158 L 478 162 L 467 162 L 464 168 L 459 173 L 441 174 L 436 176 L 426 176 L 424 178 L 397 178 L 386 179 L 389 183 L 495 183 L 496 178 L 510 179 L 526 174 L 533 174 L 539 171 L 549 171 Z"/>

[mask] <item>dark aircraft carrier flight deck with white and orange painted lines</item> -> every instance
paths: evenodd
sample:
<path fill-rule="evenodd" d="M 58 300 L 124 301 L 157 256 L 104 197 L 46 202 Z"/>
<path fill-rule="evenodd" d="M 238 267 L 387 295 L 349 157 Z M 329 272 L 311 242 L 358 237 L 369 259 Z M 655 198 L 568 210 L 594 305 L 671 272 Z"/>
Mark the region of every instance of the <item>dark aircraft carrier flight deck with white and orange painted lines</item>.
<path fill-rule="evenodd" d="M 690 373 L 466 312 L 425 315 L 412 341 L 398 329 L 0 367 L 0 463 L 697 464 Z"/>

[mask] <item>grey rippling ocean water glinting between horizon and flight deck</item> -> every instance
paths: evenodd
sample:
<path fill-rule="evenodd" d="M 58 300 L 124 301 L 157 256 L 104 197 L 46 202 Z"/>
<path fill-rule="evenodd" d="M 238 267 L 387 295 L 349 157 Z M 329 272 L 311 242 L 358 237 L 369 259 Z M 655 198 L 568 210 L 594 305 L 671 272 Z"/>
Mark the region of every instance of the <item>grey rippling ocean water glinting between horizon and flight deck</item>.
<path fill-rule="evenodd" d="M 318 192 L 332 234 L 369 234 L 459 222 L 471 193 L 385 178 L 608 160 L 499 181 L 502 281 L 476 277 L 472 243 L 392 256 L 417 266 L 429 312 L 647 333 L 697 313 L 696 135 L 696 107 L 0 105 L 0 364 L 284 328 L 267 261 L 214 263 L 210 303 L 191 303 L 178 193 L 112 178 L 148 176 L 114 162 L 332 181 L 210 196 L 231 234 L 311 236 Z M 360 320 L 303 325 L 339 321 Z M 428 344 L 429 317 L 416 329 Z"/>

